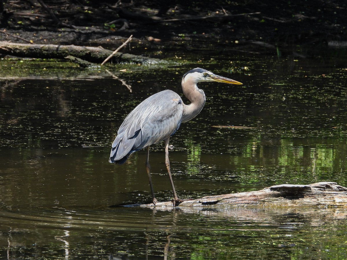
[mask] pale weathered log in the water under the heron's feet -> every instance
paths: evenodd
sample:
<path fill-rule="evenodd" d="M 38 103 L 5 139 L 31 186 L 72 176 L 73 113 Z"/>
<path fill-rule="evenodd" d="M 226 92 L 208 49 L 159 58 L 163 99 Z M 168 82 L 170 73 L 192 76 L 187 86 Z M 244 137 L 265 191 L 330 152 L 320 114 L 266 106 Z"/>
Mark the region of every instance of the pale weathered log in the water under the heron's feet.
<path fill-rule="evenodd" d="M 155 208 L 172 207 L 171 201 L 159 202 Z M 178 207 L 228 207 L 256 205 L 261 207 L 345 207 L 347 208 L 347 188 L 336 182 L 318 182 L 308 185 L 281 184 L 259 191 L 206 196 L 195 200 L 185 200 Z M 153 203 L 141 207 L 153 207 Z"/>

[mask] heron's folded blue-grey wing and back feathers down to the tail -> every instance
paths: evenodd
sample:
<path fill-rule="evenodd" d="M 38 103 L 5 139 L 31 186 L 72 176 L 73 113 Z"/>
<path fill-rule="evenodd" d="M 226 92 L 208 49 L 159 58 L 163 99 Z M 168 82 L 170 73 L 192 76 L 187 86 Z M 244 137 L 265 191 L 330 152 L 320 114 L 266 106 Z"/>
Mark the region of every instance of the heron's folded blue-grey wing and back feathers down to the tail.
<path fill-rule="evenodd" d="M 134 151 L 173 135 L 180 126 L 182 112 L 182 100 L 171 90 L 145 99 L 121 124 L 112 144 L 109 162 L 122 164 Z"/>

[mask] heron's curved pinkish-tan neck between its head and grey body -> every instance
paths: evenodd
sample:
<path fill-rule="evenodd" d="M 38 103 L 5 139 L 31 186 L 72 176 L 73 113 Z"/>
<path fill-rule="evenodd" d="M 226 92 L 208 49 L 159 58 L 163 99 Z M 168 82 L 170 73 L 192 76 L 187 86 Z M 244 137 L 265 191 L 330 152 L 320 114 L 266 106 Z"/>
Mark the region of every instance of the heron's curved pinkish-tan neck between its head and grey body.
<path fill-rule="evenodd" d="M 186 105 L 183 103 L 183 115 L 182 122 L 187 122 L 202 110 L 204 107 L 206 97 L 202 89 L 199 89 L 196 82 L 190 78 L 182 80 L 183 94 L 189 99 L 190 104 Z"/>

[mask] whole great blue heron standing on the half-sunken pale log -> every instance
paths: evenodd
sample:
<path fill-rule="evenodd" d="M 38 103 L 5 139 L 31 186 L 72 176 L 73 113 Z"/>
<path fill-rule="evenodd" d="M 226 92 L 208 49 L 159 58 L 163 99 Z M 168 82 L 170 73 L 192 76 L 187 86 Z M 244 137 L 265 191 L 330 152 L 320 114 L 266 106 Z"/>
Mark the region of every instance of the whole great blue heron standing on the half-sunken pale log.
<path fill-rule="evenodd" d="M 228 84 L 241 85 L 242 83 L 213 74 L 211 71 L 195 68 L 189 70 L 182 78 L 182 90 L 191 102 L 186 105 L 181 97 L 172 90 L 163 90 L 142 101 L 125 118 L 113 141 L 110 154 L 110 163 L 123 164 L 130 154 L 147 147 L 146 170 L 152 192 L 153 204 L 158 200 L 154 196 L 151 166 L 149 163 L 150 145 L 165 142 L 165 165 L 170 177 L 172 191 L 174 192 L 174 205 L 184 200 L 178 199 L 174 182 L 172 181 L 169 161 L 170 136 L 178 130 L 181 123 L 185 123 L 200 113 L 206 97 L 203 90 L 197 87 L 202 81 L 217 81 Z"/>

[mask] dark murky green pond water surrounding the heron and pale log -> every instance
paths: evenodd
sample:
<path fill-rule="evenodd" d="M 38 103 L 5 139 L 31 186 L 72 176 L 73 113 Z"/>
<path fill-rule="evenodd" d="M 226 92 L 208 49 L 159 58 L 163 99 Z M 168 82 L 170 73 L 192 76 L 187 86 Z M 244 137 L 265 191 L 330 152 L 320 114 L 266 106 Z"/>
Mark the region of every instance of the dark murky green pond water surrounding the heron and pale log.
<path fill-rule="evenodd" d="M 151 200 L 146 152 L 108 163 L 125 115 L 160 90 L 181 93 L 182 75 L 199 66 L 244 85 L 200 84 L 204 110 L 171 138 L 179 197 L 346 186 L 346 55 L 328 52 L 232 62 L 223 53 L 191 57 L 202 61 L 193 66 L 110 71 L 122 81 L 68 63 L 0 61 L 0 258 L 347 258 L 344 209 L 122 207 Z M 167 200 L 162 150 L 153 146 L 150 160 L 157 198 Z"/>

